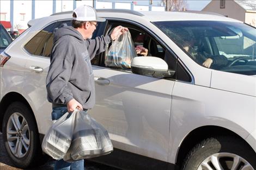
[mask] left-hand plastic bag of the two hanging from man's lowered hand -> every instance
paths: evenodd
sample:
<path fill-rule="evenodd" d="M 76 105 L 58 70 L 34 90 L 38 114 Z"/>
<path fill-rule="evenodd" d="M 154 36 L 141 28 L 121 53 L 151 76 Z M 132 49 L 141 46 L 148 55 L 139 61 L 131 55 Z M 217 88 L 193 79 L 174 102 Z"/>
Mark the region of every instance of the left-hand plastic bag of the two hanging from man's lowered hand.
<path fill-rule="evenodd" d="M 75 114 L 68 116 L 66 112 L 54 122 L 42 141 L 42 150 L 56 160 L 64 158 L 72 141 Z"/>

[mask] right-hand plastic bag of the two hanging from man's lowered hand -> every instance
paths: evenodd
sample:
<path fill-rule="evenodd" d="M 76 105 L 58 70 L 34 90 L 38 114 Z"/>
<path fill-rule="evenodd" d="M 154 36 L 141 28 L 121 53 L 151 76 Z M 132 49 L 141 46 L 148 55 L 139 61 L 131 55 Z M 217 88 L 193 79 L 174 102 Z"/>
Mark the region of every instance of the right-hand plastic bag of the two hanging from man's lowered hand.
<path fill-rule="evenodd" d="M 90 117 L 87 112 L 76 112 L 73 139 L 64 161 L 94 158 L 113 151 L 112 142 L 107 130 Z"/>

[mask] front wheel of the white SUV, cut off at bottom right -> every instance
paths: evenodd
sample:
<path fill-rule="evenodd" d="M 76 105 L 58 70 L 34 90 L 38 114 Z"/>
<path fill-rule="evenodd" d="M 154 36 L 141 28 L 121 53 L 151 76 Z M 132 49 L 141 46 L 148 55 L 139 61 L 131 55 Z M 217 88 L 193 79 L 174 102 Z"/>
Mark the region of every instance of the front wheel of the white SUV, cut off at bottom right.
<path fill-rule="evenodd" d="M 235 137 L 203 140 L 187 154 L 182 170 L 256 170 L 256 154 Z M 236 163 L 237 162 L 237 163 Z"/>

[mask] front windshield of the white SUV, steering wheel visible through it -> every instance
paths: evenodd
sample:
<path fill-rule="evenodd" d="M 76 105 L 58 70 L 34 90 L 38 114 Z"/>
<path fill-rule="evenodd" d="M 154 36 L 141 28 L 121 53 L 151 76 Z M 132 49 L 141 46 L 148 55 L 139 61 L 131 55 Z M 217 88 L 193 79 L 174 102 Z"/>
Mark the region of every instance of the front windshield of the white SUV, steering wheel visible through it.
<path fill-rule="evenodd" d="M 256 74 L 256 29 L 239 22 L 161 21 L 154 24 L 198 64 L 215 70 Z"/>

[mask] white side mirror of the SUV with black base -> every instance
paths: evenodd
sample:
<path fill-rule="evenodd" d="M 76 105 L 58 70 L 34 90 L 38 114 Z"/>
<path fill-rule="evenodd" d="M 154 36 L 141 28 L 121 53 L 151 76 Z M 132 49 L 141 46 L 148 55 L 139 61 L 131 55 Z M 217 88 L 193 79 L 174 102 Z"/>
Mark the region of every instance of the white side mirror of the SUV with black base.
<path fill-rule="evenodd" d="M 175 73 L 174 70 L 168 70 L 168 65 L 163 59 L 155 56 L 136 56 L 131 61 L 131 71 L 156 78 L 172 78 Z"/>

